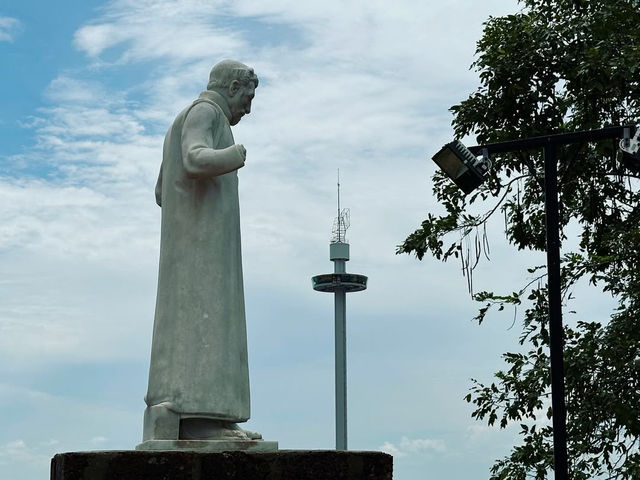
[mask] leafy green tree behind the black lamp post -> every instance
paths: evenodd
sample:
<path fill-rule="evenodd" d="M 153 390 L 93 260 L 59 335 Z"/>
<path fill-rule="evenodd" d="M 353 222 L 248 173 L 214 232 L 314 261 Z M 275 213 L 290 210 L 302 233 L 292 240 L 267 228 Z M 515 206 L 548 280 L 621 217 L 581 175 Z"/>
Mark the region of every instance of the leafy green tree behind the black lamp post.
<path fill-rule="evenodd" d="M 456 137 L 475 134 L 484 144 L 640 123 L 640 1 L 520 3 L 519 13 L 484 24 L 472 65 L 480 87 L 451 107 Z M 639 479 L 640 170 L 614 141 L 567 146 L 559 158 L 561 225 L 579 228 L 577 251 L 563 256 L 565 302 L 582 278 L 617 302 L 609 318 L 577 312 L 568 321 L 565 315 L 570 478 Z M 544 250 L 540 152 L 492 161 L 488 181 L 468 196 L 437 172 L 433 192 L 446 213 L 429 213 L 398 253 L 442 261 L 462 256 L 470 274 L 482 242 L 468 258 L 460 239 L 478 235 L 496 212 L 504 214 L 515 247 Z M 471 213 L 479 206 L 486 213 Z M 482 302 L 479 323 L 492 309 L 524 306 L 518 352 L 505 353 L 505 368 L 491 383 L 474 380 L 465 397 L 474 418 L 520 428 L 491 479 L 545 479 L 553 468 L 545 268 L 532 267 L 538 281 L 518 292 L 473 295 Z"/>

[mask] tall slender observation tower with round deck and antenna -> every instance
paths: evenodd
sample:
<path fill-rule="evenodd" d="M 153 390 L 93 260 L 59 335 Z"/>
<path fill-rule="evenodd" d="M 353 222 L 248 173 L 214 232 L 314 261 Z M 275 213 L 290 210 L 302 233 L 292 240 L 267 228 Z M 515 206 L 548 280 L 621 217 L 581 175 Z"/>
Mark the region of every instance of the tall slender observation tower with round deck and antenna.
<path fill-rule="evenodd" d="M 349 243 L 346 238 L 349 225 L 349 209 L 340 209 L 340 179 L 338 178 L 338 216 L 333 222 L 333 232 L 329 244 L 329 260 L 333 262 L 333 273 L 324 273 L 311 278 L 314 290 L 334 294 L 336 450 L 347 449 L 346 294 L 367 288 L 366 276 L 347 273 L 345 269 L 345 263 L 349 261 Z"/>

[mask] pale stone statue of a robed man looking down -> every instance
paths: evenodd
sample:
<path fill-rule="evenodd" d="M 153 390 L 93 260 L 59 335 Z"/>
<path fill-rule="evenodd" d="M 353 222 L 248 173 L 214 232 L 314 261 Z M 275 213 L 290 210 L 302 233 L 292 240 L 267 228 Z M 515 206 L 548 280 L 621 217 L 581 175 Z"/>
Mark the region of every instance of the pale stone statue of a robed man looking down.
<path fill-rule="evenodd" d="M 144 441 L 259 438 L 237 426 L 249 418 L 237 175 L 246 151 L 231 133 L 257 86 L 253 69 L 218 63 L 164 140 Z"/>

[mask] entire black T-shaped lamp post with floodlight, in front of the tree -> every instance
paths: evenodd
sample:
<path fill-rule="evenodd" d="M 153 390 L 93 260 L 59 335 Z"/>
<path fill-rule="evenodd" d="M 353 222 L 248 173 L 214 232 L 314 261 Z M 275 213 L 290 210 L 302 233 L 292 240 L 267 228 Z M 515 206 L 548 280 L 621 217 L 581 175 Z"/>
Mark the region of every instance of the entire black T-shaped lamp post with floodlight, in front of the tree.
<path fill-rule="evenodd" d="M 634 138 L 631 132 L 635 130 Z M 492 153 L 516 152 L 542 147 L 544 154 L 544 204 L 547 250 L 547 277 L 549 303 L 549 350 L 551 358 L 551 406 L 553 422 L 553 466 L 556 480 L 568 480 L 567 410 L 564 392 L 564 333 L 562 328 L 562 290 L 560 279 L 560 221 L 558 205 L 558 160 L 560 145 L 624 138 L 621 144 L 625 155 L 638 160 L 638 135 L 633 126 L 616 126 L 584 132 L 562 133 L 542 137 L 524 138 L 465 148 L 454 141 L 445 145 L 433 160 L 463 190 L 470 193 L 485 179 L 489 166 L 486 161 Z M 625 147 L 626 145 L 626 147 Z M 630 145 L 634 151 L 629 151 Z M 462 153 L 461 153 L 462 152 Z M 468 155 L 471 154 L 471 156 Z M 485 161 L 476 157 L 483 155 Z"/>

